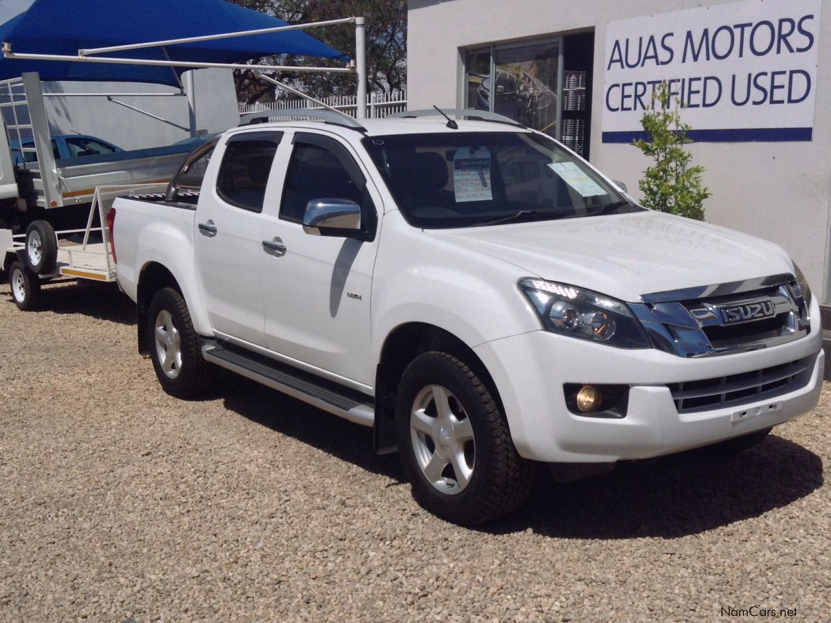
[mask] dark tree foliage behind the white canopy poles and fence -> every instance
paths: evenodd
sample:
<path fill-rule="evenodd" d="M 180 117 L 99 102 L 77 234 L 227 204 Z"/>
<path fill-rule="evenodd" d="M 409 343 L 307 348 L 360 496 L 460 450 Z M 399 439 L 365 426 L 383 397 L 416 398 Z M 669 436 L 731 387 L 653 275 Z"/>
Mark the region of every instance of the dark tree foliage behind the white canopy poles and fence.
<path fill-rule="evenodd" d="M 366 17 L 366 83 L 368 91 L 400 91 L 406 87 L 406 0 L 231 0 L 234 4 L 273 15 L 290 24 L 323 22 L 342 17 Z M 306 31 L 336 50 L 355 57 L 355 27 L 339 24 Z M 263 61 L 289 66 L 342 66 L 339 61 L 283 55 Z M 354 74 L 282 71 L 273 76 L 314 97 L 354 95 Z M 274 86 L 253 71 L 235 71 L 234 81 L 243 101 L 271 96 Z M 280 96 L 280 93 L 277 93 Z"/>

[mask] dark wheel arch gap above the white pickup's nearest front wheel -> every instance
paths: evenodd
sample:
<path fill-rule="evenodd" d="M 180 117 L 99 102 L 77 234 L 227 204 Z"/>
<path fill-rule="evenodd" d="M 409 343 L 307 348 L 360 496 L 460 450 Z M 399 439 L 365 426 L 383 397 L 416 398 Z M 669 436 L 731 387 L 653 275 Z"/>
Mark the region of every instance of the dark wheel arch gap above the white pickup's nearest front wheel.
<path fill-rule="evenodd" d="M 386 336 L 376 369 L 376 410 L 373 424 L 373 445 L 377 454 L 396 452 L 394 429 L 396 392 L 401 375 L 417 356 L 441 351 L 465 362 L 479 379 L 493 392 L 493 398 L 503 410 L 499 390 L 483 361 L 473 347 L 450 331 L 427 322 L 407 322 L 396 326 Z"/>

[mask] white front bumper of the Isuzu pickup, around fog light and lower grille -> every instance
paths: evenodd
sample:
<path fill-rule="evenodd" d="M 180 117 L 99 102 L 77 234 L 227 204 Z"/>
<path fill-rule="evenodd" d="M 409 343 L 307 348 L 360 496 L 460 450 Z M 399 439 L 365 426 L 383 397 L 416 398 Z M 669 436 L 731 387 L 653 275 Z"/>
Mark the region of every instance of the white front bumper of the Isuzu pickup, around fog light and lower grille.
<path fill-rule="evenodd" d="M 606 463 L 648 459 L 782 424 L 814 409 L 824 353 L 819 307 L 809 336 L 759 351 L 684 359 L 654 349 L 624 350 L 533 331 L 474 350 L 494 378 L 514 444 L 526 459 Z M 669 385 L 718 379 L 800 361 L 798 382 L 784 393 L 691 412 L 676 409 Z M 629 386 L 620 419 L 573 414 L 563 385 Z"/>

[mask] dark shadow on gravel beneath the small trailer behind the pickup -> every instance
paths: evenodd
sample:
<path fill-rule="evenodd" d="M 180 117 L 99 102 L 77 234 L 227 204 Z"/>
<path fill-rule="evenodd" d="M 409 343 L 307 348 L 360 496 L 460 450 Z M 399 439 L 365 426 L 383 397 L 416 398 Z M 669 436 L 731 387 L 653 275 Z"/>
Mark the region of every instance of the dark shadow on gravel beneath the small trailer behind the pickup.
<path fill-rule="evenodd" d="M 3 294 L 13 305 L 8 286 Z M 80 314 L 122 325 L 135 325 L 135 304 L 119 291 L 115 283 L 82 281 L 45 286 L 41 290 L 40 309 L 26 313 L 42 312 Z"/>

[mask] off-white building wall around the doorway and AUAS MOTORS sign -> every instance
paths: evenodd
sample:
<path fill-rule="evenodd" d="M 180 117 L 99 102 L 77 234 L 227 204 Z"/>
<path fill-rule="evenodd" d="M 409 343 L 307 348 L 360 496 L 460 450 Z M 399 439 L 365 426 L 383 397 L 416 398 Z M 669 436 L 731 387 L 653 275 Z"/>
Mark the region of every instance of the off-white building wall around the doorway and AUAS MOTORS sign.
<path fill-rule="evenodd" d="M 593 30 L 591 159 L 635 196 L 650 164 L 631 145 L 602 143 L 608 22 L 723 4 L 730 0 L 410 0 L 407 37 L 409 107 L 464 104 L 460 48 Z M 710 223 L 752 233 L 786 248 L 815 292 L 829 300 L 831 209 L 831 0 L 819 32 L 814 140 L 800 143 L 701 143 L 694 164 L 706 168 Z M 682 24 L 680 25 L 683 26 Z"/>

